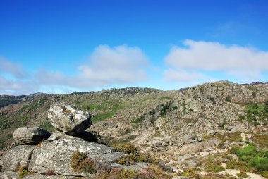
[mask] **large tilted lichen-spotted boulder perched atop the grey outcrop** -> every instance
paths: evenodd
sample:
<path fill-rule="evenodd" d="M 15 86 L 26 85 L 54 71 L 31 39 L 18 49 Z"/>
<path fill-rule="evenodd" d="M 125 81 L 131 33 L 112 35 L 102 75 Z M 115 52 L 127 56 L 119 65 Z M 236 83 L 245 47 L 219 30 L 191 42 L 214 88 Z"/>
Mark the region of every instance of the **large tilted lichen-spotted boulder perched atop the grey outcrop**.
<path fill-rule="evenodd" d="M 87 111 L 80 111 L 74 106 L 59 103 L 50 107 L 48 118 L 51 124 L 68 135 L 83 132 L 92 124 L 91 115 Z"/>

